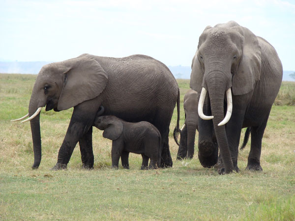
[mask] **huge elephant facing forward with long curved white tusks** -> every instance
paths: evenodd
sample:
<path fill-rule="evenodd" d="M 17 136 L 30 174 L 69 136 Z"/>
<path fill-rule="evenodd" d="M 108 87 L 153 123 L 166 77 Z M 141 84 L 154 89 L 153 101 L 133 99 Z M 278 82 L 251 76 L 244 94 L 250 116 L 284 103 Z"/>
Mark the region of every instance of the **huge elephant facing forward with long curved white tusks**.
<path fill-rule="evenodd" d="M 198 156 L 203 166 L 218 160 L 219 173 L 238 171 L 241 129 L 251 127 L 247 168 L 262 170 L 262 138 L 282 73 L 275 49 L 249 29 L 234 21 L 205 28 L 190 80 L 200 94 Z"/>

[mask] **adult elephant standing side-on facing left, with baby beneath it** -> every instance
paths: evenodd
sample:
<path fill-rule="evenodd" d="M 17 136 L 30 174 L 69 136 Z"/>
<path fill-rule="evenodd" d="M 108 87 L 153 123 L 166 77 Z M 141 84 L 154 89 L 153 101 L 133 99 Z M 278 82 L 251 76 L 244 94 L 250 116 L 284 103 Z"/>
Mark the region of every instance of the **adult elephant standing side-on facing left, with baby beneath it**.
<path fill-rule="evenodd" d="M 104 115 L 115 115 L 128 122 L 148 121 L 153 124 L 162 137 L 161 166 L 172 166 L 168 135 L 177 101 L 179 110 L 179 89 L 170 70 L 146 55 L 113 58 L 84 54 L 47 64 L 40 70 L 34 84 L 29 114 L 23 117 L 30 116 L 25 121 L 30 120 L 31 126 L 32 168 L 38 168 L 41 162 L 39 116 L 45 106 L 46 111 L 74 107 L 53 169 L 67 167 L 77 142 L 83 167 L 92 168 L 92 125 L 101 105 L 105 109 Z"/>

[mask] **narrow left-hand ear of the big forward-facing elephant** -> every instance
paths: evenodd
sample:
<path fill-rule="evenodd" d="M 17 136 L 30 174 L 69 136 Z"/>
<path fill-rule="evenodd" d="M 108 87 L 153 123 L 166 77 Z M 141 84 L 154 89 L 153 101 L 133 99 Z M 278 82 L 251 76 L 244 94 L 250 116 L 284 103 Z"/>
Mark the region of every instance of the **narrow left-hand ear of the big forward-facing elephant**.
<path fill-rule="evenodd" d="M 190 88 L 193 90 L 201 93 L 202 90 L 202 83 L 204 78 L 204 71 L 202 70 L 200 61 L 198 59 L 198 51 L 196 52 L 195 56 L 193 57 L 192 61 L 192 72 L 190 76 Z"/>

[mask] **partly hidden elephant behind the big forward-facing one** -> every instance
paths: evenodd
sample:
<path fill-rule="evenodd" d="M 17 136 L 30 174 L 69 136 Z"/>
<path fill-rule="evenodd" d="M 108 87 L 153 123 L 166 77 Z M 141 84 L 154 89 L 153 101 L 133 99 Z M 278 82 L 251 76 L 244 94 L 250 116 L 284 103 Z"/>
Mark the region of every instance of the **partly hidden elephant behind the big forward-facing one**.
<path fill-rule="evenodd" d="M 185 121 L 181 128 L 177 160 L 192 159 L 194 156 L 195 136 L 198 129 L 198 105 L 196 105 L 198 99 L 198 92 L 193 89 L 188 90 L 184 95 L 183 109 Z"/>

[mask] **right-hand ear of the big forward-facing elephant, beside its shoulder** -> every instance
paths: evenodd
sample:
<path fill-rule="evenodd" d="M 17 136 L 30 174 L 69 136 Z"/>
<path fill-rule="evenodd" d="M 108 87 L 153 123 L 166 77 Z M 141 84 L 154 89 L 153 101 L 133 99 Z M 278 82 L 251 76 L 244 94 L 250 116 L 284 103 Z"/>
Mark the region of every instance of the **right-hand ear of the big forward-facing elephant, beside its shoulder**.
<path fill-rule="evenodd" d="M 243 55 L 233 76 L 232 90 L 234 95 L 249 93 L 254 89 L 255 82 L 260 80 L 261 47 L 258 38 L 248 28 L 233 27 L 243 37 Z"/>

